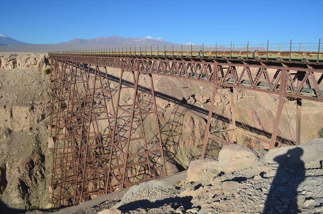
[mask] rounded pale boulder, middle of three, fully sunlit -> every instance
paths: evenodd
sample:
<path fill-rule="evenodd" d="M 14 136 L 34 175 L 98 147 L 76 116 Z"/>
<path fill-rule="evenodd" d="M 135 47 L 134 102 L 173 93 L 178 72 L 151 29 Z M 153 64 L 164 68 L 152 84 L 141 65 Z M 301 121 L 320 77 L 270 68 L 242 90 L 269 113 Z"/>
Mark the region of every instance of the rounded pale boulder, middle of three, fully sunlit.
<path fill-rule="evenodd" d="M 260 151 L 232 144 L 225 146 L 219 152 L 219 170 L 233 172 L 251 167 L 262 157 Z"/>

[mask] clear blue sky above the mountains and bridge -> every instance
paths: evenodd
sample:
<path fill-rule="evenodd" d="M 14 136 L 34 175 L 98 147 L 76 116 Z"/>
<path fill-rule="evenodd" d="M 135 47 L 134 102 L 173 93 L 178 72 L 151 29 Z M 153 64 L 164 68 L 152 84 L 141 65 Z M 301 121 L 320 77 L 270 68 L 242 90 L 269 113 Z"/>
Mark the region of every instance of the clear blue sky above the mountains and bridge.
<path fill-rule="evenodd" d="M 323 1 L 4 0 L 0 32 L 29 43 L 164 37 L 173 43 L 318 42 Z"/>

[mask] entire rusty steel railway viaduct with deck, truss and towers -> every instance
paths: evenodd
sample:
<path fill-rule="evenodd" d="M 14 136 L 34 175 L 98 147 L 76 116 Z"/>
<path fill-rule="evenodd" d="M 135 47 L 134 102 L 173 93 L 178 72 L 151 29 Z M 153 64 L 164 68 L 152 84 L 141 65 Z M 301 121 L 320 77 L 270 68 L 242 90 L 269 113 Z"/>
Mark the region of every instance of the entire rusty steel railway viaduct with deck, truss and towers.
<path fill-rule="evenodd" d="M 284 102 L 297 104 L 296 142 L 300 143 L 302 99 L 323 102 L 323 53 L 300 51 L 80 50 L 49 53 L 52 108 L 49 144 L 53 147 L 49 191 L 54 206 L 79 204 L 97 195 L 166 176 L 152 75 L 212 84 L 201 158 L 210 143 L 236 143 L 236 134 L 256 138 L 263 147 L 280 146 Z M 106 69 L 120 70 L 120 79 Z M 131 81 L 125 76 L 130 75 Z M 142 78 L 147 85 L 140 85 Z M 112 93 L 111 82 L 119 81 Z M 217 89 L 231 91 L 230 141 L 210 133 Z M 236 126 L 233 95 L 246 89 L 277 95 L 271 140 Z M 129 95 L 130 94 L 130 95 Z M 125 96 L 128 102 L 124 102 Z M 113 97 L 116 97 L 113 99 Z M 129 103 L 130 100 L 130 103 Z M 115 103 L 114 103 L 115 102 Z M 145 125 L 150 117 L 155 126 Z M 219 118 L 218 118 L 219 119 Z M 153 137 L 148 132 L 154 133 Z M 150 137 L 148 137 L 150 136 Z M 134 150 L 134 148 L 136 148 Z"/>

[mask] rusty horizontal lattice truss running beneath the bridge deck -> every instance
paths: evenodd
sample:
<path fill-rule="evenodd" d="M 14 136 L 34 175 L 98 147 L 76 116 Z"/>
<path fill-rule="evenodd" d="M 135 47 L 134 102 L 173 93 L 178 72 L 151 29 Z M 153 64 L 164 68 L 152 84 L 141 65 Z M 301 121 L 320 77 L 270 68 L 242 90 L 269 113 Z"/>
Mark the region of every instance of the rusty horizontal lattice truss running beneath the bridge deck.
<path fill-rule="evenodd" d="M 90 61 L 92 64 L 124 68 L 151 74 L 167 75 L 178 78 L 213 83 L 225 87 L 258 90 L 280 94 L 279 79 L 285 70 L 287 87 L 284 96 L 323 101 L 323 90 L 319 85 L 323 79 L 323 71 L 309 68 L 288 68 L 265 65 L 243 65 L 231 63 L 171 61 L 152 59 L 132 59 L 116 57 L 85 57 L 85 56 L 52 56 L 56 59 L 66 59 L 77 62 Z M 272 74 L 268 69 L 275 69 Z"/>

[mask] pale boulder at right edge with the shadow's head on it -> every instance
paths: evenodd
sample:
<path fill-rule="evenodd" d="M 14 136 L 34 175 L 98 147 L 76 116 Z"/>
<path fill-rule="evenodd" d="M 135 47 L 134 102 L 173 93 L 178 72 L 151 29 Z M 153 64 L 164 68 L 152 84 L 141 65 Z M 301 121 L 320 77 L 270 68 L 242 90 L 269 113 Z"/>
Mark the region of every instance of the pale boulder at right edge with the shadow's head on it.
<path fill-rule="evenodd" d="M 316 138 L 298 146 L 286 146 L 268 151 L 264 162 L 268 164 L 293 164 L 299 167 L 321 167 L 323 160 L 323 138 Z"/>

